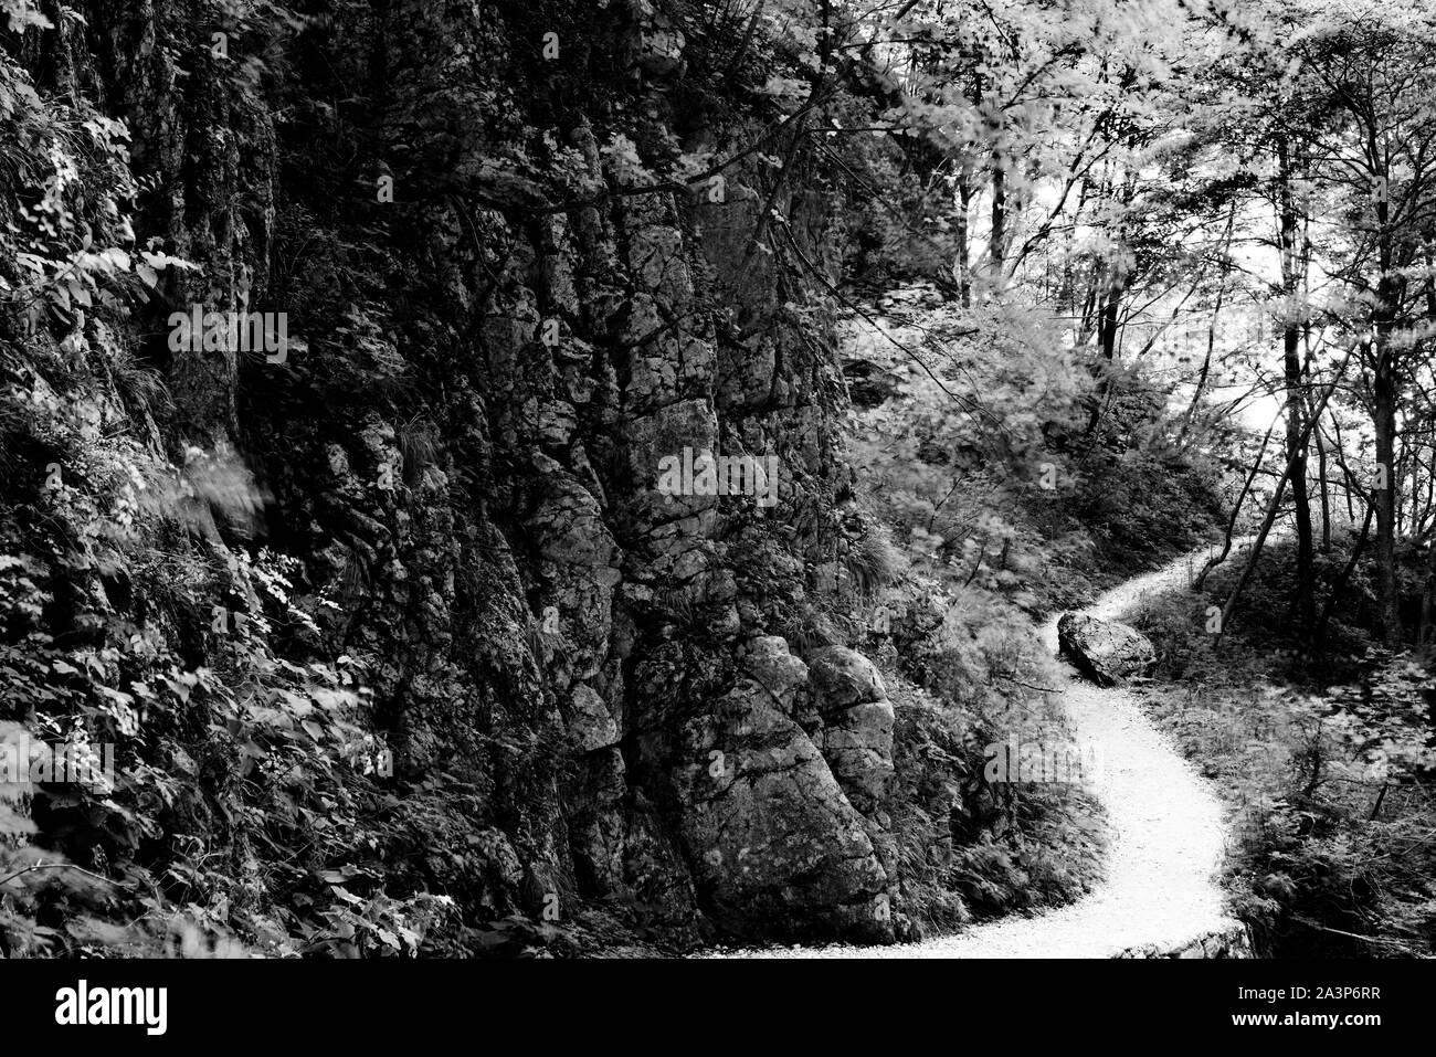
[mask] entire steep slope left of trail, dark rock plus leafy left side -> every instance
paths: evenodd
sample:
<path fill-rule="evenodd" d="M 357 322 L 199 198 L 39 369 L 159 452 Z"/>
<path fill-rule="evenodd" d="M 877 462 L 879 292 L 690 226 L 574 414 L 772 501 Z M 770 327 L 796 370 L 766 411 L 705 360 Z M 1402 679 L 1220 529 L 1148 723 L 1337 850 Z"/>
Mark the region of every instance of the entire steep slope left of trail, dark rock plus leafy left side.
<path fill-rule="evenodd" d="M 442 893 L 449 949 L 600 900 L 893 936 L 892 707 L 860 655 L 798 648 L 854 531 L 816 293 L 843 192 L 807 115 L 738 88 L 781 49 L 699 16 L 92 0 L 6 36 L 0 269 L 33 294 L 0 335 L 6 642 L 65 665 L 14 682 L 9 718 L 63 685 L 121 742 L 126 813 L 62 826 L 37 788 L 37 847 L 158 877 L 198 842 L 221 865 L 154 898 L 250 908 L 250 941 L 327 935 L 261 913 L 327 905 L 316 877 L 370 912 Z M 286 353 L 177 349 L 197 304 L 284 313 Z M 662 494 L 685 448 L 775 457 L 775 506 Z M 353 702 L 392 776 L 286 787 L 296 695 Z M 175 720 L 200 701 L 208 722 Z M 247 734 L 269 720 L 283 738 Z M 230 797 L 287 798 L 319 847 L 279 872 Z"/>

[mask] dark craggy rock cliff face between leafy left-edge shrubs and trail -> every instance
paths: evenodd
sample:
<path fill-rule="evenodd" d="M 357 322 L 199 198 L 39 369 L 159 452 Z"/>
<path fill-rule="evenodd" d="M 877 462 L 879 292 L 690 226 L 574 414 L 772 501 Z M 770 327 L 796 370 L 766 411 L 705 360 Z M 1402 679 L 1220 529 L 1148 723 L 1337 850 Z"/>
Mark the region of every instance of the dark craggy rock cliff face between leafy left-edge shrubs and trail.
<path fill-rule="evenodd" d="M 803 649 L 850 485 L 804 119 L 678 3 L 82 13 L 14 57 L 128 124 L 135 246 L 197 266 L 111 317 L 172 394 L 131 428 L 253 475 L 205 546 L 337 600 L 284 645 L 366 672 L 393 877 L 471 925 L 890 939 L 892 707 Z M 165 348 L 194 304 L 284 313 L 287 360 Z M 694 452 L 775 467 L 773 504 L 661 488 Z"/>

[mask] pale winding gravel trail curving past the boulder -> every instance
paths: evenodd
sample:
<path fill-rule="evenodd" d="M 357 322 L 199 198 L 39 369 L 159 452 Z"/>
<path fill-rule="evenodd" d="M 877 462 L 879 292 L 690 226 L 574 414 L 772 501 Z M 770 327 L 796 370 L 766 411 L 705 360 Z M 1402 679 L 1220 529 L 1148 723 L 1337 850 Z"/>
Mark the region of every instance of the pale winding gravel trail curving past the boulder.
<path fill-rule="evenodd" d="M 1084 612 L 1116 619 L 1143 595 L 1190 583 L 1215 549 L 1203 547 L 1127 580 Z M 1238 557 L 1234 544 L 1228 560 Z M 1057 616 L 1041 626 L 1055 655 Z M 1223 911 L 1216 873 L 1226 832 L 1208 783 L 1120 686 L 1100 688 L 1063 665 L 1058 681 L 1076 742 L 1101 763 L 1088 788 L 1107 811 L 1106 879 L 1084 899 L 1037 915 L 1012 915 L 951 936 L 896 946 L 793 946 L 747 951 L 778 958 L 1110 958 L 1129 948 L 1173 951 L 1241 925 Z M 1084 757 L 1086 758 L 1086 757 Z"/>

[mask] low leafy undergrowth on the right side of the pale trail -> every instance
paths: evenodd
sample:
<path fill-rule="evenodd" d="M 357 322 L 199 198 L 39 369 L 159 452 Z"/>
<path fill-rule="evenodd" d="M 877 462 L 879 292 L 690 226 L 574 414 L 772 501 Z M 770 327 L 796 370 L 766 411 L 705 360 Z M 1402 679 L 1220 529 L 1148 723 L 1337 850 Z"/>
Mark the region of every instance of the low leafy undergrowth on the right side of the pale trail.
<path fill-rule="evenodd" d="M 1234 911 L 1261 955 L 1430 956 L 1429 659 L 1373 646 L 1361 622 L 1376 613 L 1360 605 L 1334 622 L 1324 655 L 1298 653 L 1291 622 L 1272 619 L 1291 607 L 1285 541 L 1258 564 L 1218 646 L 1205 607 L 1225 599 L 1235 563 L 1205 595 L 1152 597 L 1133 618 L 1160 658 L 1147 707 L 1228 806 Z M 1340 550 L 1323 563 L 1344 564 Z M 1347 597 L 1363 597 L 1369 576 L 1358 570 Z"/>

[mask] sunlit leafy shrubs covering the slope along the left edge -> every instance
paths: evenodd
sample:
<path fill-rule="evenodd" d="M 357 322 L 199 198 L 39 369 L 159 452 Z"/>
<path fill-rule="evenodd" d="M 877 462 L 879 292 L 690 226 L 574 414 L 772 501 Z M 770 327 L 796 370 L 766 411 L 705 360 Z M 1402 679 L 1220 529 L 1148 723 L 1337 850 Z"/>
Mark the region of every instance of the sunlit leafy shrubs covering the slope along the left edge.
<path fill-rule="evenodd" d="M 339 603 L 233 452 L 161 442 L 125 335 L 191 266 L 135 244 L 125 129 L 0 50 L 0 954 L 418 954 L 452 900 L 385 860 L 416 821 Z M 29 781 L 34 744 L 113 773 Z"/>

